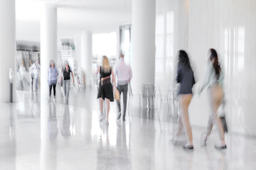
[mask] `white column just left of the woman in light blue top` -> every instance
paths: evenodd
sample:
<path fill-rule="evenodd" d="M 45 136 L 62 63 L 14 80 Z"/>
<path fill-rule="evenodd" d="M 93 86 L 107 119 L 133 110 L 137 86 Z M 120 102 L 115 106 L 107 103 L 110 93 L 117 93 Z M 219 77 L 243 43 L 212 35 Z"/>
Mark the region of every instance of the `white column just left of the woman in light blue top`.
<path fill-rule="evenodd" d="M 57 8 L 44 4 L 41 11 L 41 102 L 49 96 L 50 60 L 57 61 Z"/>

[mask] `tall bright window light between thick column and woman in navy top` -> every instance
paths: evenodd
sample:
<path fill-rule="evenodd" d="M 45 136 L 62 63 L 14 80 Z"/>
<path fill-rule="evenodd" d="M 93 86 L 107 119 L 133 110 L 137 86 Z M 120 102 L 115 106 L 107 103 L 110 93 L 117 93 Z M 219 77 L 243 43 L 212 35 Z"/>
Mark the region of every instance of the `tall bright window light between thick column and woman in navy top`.
<path fill-rule="evenodd" d="M 174 60 L 174 11 L 168 11 L 156 16 L 155 82 L 161 91 L 173 84 L 166 77 L 174 75 Z"/>

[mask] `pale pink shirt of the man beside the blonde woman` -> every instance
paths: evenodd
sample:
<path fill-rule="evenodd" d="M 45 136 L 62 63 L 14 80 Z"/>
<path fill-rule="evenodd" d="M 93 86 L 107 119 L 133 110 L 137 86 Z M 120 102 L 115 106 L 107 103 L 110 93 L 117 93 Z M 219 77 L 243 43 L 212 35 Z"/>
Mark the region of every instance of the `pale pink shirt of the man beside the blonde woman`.
<path fill-rule="evenodd" d="M 114 66 L 114 77 L 117 77 L 117 84 L 121 86 L 128 84 L 132 79 L 132 69 L 125 64 L 123 57 Z"/>

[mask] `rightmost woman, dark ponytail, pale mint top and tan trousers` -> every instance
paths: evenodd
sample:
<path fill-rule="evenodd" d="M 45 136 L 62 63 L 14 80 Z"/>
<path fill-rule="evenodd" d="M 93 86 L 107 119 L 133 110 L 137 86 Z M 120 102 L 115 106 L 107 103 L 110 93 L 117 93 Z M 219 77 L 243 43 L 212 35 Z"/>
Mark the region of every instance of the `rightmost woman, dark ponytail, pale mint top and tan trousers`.
<path fill-rule="evenodd" d="M 225 144 L 225 136 L 223 131 L 223 126 L 221 124 L 221 120 L 218 117 L 218 107 L 223 100 L 223 71 L 220 68 L 220 63 L 218 62 L 218 55 L 216 50 L 211 48 L 210 52 L 210 60 L 208 60 L 208 64 L 206 67 L 206 71 L 204 72 L 204 79 L 201 89 L 199 89 L 199 93 L 208 86 L 208 92 L 210 94 L 210 104 L 211 104 L 211 115 L 208 120 L 208 126 L 206 133 L 203 133 L 201 137 L 202 145 L 206 145 L 206 140 L 208 139 L 210 132 L 213 128 L 213 123 L 217 125 L 218 132 L 220 135 L 220 146 L 215 146 L 216 149 L 226 149 L 227 145 Z"/>

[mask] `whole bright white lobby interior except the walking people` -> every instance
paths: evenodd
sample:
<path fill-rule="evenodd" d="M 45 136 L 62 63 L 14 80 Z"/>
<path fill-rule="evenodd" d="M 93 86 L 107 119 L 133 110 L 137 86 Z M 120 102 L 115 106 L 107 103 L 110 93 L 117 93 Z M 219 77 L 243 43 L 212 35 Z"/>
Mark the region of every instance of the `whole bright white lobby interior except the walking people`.
<path fill-rule="evenodd" d="M 255 19 L 254 0 L 1 0 L 0 169 L 255 169 Z M 198 87 L 210 48 L 225 75 L 225 150 L 214 148 L 215 125 L 201 145 L 210 101 Z M 196 77 L 193 151 L 182 148 L 186 132 L 171 141 L 180 115 L 178 50 L 188 52 Z M 121 52 L 133 74 L 127 117 L 117 120 L 111 102 L 107 125 L 99 122 L 95 73 L 103 55 L 114 67 Z M 49 99 L 51 60 L 73 69 L 68 103 L 60 81 Z M 36 61 L 38 89 L 28 71 Z"/>

